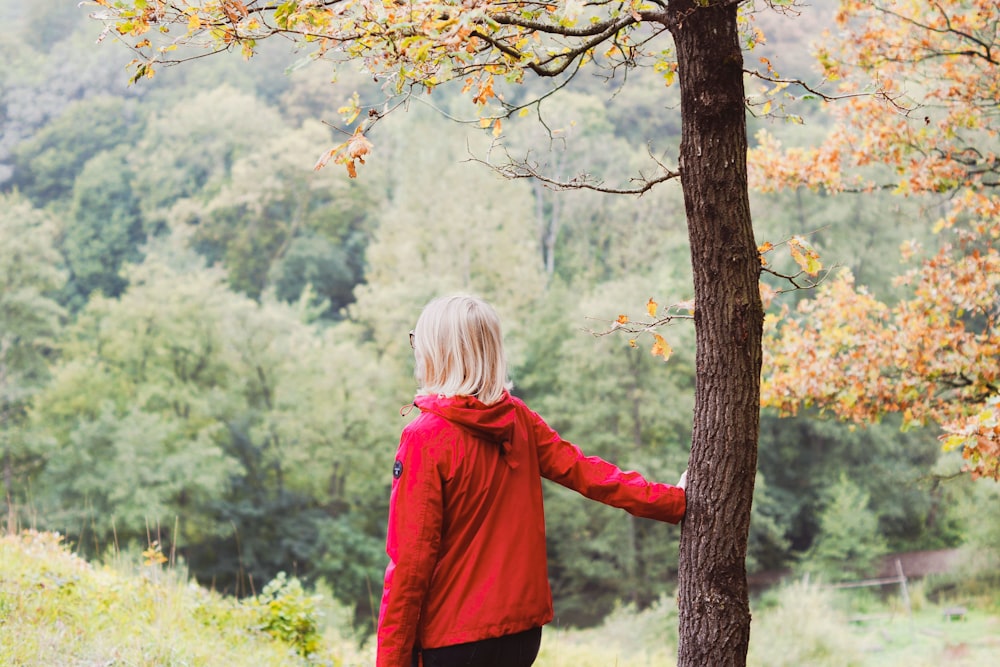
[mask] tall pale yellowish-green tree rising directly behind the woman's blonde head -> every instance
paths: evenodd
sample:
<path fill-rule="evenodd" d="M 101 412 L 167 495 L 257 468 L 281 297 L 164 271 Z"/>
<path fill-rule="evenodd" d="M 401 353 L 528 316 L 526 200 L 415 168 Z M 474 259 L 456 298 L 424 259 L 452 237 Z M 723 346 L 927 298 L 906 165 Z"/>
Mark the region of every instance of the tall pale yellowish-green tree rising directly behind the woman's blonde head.
<path fill-rule="evenodd" d="M 405 334 L 434 296 L 482 295 L 496 304 L 516 341 L 515 315 L 527 312 L 544 287 L 528 185 L 492 187 L 499 180 L 494 174 L 462 164 L 470 143 L 481 145 L 482 137 L 447 133 L 454 128 L 431 113 L 414 116 L 406 125 L 382 128 L 389 132 L 386 150 L 400 158 L 377 166 L 385 170 L 378 180 L 388 201 L 376 216 L 365 284 L 350 309 L 380 349 L 400 353 L 397 363 L 407 373 L 412 359 Z M 425 136 L 438 139 L 427 144 Z M 441 182 L 450 184 L 446 196 L 436 187 Z"/>

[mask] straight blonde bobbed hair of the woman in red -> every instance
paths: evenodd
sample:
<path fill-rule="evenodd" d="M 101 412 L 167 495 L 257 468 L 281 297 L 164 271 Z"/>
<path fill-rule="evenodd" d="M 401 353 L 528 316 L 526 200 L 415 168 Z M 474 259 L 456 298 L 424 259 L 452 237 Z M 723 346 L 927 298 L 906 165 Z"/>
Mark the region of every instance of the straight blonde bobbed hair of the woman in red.
<path fill-rule="evenodd" d="M 446 296 L 424 307 L 413 330 L 418 394 L 475 396 L 496 403 L 511 387 L 500 317 L 474 296 Z"/>

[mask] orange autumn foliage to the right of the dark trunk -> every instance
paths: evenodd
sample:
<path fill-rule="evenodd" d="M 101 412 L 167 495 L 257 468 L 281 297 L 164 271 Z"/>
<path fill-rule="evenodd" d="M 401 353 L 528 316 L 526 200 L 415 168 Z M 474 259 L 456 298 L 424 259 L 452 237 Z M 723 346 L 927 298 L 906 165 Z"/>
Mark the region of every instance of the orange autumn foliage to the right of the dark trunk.
<path fill-rule="evenodd" d="M 961 447 L 974 476 L 1000 476 L 997 363 L 1000 199 L 997 182 L 997 5 L 851 0 L 843 31 L 819 53 L 825 75 L 856 95 L 815 148 L 783 150 L 767 134 L 752 152 L 758 187 L 829 192 L 891 187 L 941 204 L 946 242 L 899 277 L 892 304 L 844 275 L 791 317 L 770 347 L 763 401 L 785 412 L 815 404 L 846 419 L 898 411 L 904 424 L 935 422 L 946 449 Z M 881 165 L 888 165 L 885 169 Z M 900 256 L 915 254 L 904 243 Z"/>

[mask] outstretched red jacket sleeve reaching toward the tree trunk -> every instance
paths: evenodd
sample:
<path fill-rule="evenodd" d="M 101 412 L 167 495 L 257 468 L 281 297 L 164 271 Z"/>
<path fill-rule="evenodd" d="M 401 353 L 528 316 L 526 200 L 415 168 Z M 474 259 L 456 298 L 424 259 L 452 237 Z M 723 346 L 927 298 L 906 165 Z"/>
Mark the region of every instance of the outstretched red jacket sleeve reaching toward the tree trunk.
<path fill-rule="evenodd" d="M 535 413 L 532 427 L 542 476 L 605 505 L 645 519 L 678 523 L 684 518 L 684 489 L 647 481 L 597 456 L 585 456 L 579 447 L 559 437 Z"/>

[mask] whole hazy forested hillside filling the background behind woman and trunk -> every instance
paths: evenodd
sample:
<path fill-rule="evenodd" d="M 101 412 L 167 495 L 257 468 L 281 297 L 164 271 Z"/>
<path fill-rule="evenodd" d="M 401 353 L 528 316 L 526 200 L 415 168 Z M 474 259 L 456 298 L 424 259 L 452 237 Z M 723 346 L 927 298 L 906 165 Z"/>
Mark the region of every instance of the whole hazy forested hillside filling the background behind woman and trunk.
<path fill-rule="evenodd" d="M 908 42 L 880 42 L 877 16 L 851 24 L 867 41 L 820 39 L 870 3 L 842 4 L 758 3 L 748 14 L 769 39 L 753 60 L 849 80 L 836 49 L 853 46 L 857 69 L 888 71 L 879 45 Z M 352 95 L 380 94 L 370 75 L 331 79 L 278 41 L 133 83 L 95 9 L 0 5 L 8 532 L 57 531 L 95 561 L 155 545 L 235 596 L 287 573 L 371 632 L 413 416 L 407 332 L 453 292 L 496 305 L 514 393 L 566 439 L 652 479 L 687 467 L 693 326 L 614 331 L 693 297 L 677 183 L 629 196 L 502 178 L 484 164 L 499 126 L 482 129 L 458 87 L 381 119 L 357 178 L 336 161 L 314 169 L 344 141 Z M 987 23 L 996 49 L 995 7 Z M 998 68 L 995 55 L 944 62 L 914 66 L 884 99 L 748 83 L 751 208 L 771 269 L 751 575 L 843 581 L 891 553 L 1000 556 Z M 558 181 L 628 183 L 651 156 L 675 163 L 676 87 L 654 67 L 628 78 L 581 74 L 544 114 L 505 121 L 502 150 Z M 800 289 L 783 277 L 797 266 L 819 277 Z M 545 507 L 560 625 L 672 594 L 679 528 L 555 485 Z"/>

